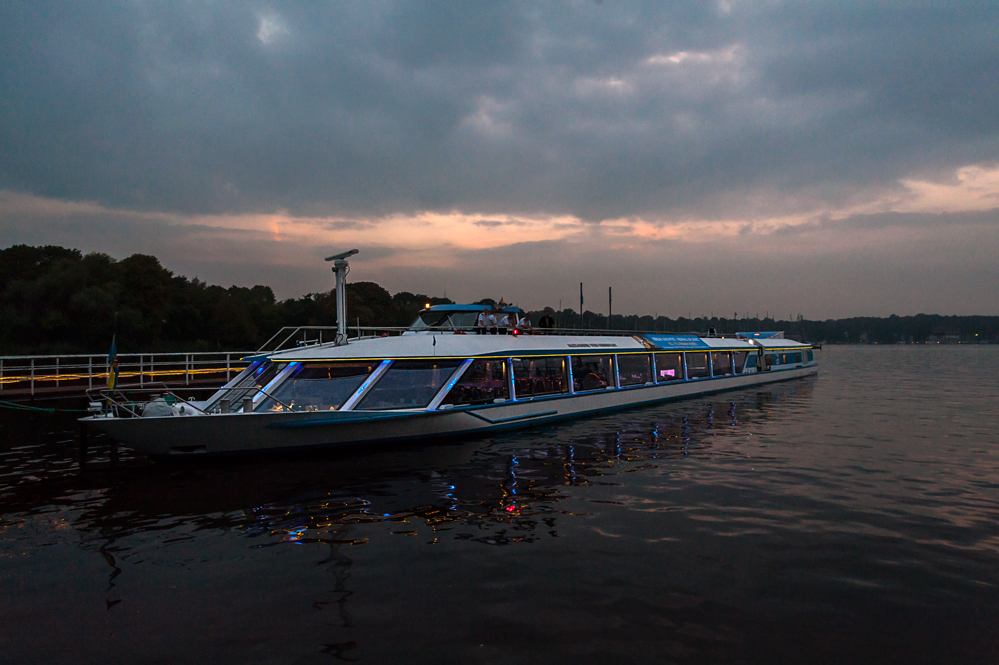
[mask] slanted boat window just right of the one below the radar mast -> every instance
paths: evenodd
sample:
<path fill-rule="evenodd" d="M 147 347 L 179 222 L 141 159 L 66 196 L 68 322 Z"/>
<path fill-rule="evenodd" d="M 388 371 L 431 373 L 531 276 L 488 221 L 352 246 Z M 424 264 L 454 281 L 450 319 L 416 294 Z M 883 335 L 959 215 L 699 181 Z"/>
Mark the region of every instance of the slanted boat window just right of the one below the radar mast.
<path fill-rule="evenodd" d="M 357 408 L 425 408 L 461 362 L 458 359 L 393 361 Z"/>

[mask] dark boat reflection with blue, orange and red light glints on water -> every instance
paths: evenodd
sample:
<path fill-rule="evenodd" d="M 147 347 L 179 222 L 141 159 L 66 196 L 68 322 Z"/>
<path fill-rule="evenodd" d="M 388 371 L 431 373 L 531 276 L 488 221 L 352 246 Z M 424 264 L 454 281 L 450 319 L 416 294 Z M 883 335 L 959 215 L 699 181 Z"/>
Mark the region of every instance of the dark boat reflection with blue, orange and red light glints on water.
<path fill-rule="evenodd" d="M 614 485 L 620 473 L 668 467 L 706 453 L 717 435 L 780 413 L 811 382 L 754 391 L 736 401 L 691 402 L 504 437 L 419 447 L 384 446 L 195 466 L 123 469 L 78 528 L 121 538 L 173 527 L 241 530 L 280 542 L 357 544 L 351 527 L 393 533 L 429 527 L 487 545 L 557 535 L 568 487 Z M 776 403 L 775 403 L 776 402 Z M 717 453 L 716 453 L 717 454 Z M 422 531 L 419 531 L 422 533 Z"/>

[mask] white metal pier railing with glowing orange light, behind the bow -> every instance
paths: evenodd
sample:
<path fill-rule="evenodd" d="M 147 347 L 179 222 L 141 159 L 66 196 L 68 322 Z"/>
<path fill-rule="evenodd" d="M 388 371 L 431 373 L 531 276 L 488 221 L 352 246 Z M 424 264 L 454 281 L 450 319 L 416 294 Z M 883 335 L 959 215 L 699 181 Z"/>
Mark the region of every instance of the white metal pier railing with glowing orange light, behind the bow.
<path fill-rule="evenodd" d="M 119 353 L 118 385 L 190 385 L 225 377 L 247 366 L 248 351 L 192 353 Z M 0 356 L 0 394 L 91 390 L 107 385 L 106 353 Z"/>

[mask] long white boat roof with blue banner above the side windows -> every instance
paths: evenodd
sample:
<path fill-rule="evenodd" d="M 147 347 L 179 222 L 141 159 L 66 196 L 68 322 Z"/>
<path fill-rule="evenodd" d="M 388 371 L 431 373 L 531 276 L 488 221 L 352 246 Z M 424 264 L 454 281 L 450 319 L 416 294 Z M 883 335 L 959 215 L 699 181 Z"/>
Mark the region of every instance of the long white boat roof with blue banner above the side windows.
<path fill-rule="evenodd" d="M 273 362 L 321 362 L 386 358 L 510 358 L 550 355 L 601 355 L 669 351 L 755 351 L 809 348 L 787 339 L 753 340 L 697 335 L 463 335 L 451 332 L 407 333 L 394 337 L 368 337 L 348 344 L 316 344 L 247 358 Z"/>

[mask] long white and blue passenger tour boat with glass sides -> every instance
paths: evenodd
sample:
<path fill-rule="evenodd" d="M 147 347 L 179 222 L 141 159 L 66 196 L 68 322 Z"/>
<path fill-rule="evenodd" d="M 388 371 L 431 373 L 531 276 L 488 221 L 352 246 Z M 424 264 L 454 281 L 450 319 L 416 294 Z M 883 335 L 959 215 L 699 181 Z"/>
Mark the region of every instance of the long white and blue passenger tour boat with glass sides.
<path fill-rule="evenodd" d="M 484 434 L 818 372 L 812 346 L 780 332 L 476 334 L 481 305 L 429 307 L 401 334 L 348 340 L 352 253 L 331 257 L 335 341 L 250 357 L 204 402 L 105 395 L 82 421 L 152 457 L 304 450 Z"/>

